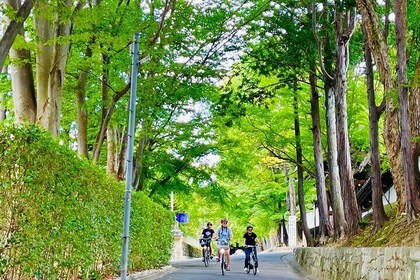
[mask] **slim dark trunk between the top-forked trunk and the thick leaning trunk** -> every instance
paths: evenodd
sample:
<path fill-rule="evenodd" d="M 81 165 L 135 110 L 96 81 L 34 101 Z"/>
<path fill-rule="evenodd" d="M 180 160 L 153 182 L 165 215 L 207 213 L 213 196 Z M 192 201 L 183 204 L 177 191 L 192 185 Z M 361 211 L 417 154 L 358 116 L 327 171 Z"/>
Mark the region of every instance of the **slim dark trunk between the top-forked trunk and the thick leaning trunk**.
<path fill-rule="evenodd" d="M 363 28 L 364 29 L 364 28 Z M 366 36 L 363 30 L 363 35 Z M 370 140 L 370 166 L 372 178 L 372 209 L 373 209 L 373 229 L 378 231 L 383 227 L 388 217 L 385 214 L 382 201 L 382 180 L 379 156 L 379 117 L 380 110 L 375 103 L 375 88 L 373 77 L 372 53 L 365 39 L 365 62 L 366 62 L 366 84 L 369 103 L 369 140 Z"/>

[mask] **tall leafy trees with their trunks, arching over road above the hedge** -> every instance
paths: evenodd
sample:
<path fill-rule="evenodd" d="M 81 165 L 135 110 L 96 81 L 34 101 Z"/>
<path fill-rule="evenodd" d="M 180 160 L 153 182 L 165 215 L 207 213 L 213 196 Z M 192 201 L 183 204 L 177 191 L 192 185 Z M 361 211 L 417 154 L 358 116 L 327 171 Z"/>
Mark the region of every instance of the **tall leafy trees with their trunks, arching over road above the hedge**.
<path fill-rule="evenodd" d="M 124 180 L 139 33 L 133 188 L 168 208 L 174 193 L 175 211 L 192 218 L 186 232 L 227 216 L 235 231 L 253 224 L 278 235 L 296 181 L 298 213 L 325 193 L 322 207 L 348 223 L 325 234 L 355 234 L 362 169 L 391 169 L 398 214 L 411 221 L 420 213 L 419 9 L 405 0 L 6 1 L 0 121 L 36 124 Z M 379 170 L 365 164 L 369 106 L 383 135 Z"/>

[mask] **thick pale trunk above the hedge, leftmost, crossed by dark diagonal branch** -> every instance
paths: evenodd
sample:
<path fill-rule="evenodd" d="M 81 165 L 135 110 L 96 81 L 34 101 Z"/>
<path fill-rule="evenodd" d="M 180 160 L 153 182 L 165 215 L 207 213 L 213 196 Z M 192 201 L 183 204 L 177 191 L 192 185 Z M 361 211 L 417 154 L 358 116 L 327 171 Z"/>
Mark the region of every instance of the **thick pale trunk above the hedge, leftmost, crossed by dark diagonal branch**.
<path fill-rule="evenodd" d="M 8 0 L 15 11 L 19 10 L 20 1 Z M 23 35 L 21 27 L 18 34 Z M 9 51 L 11 60 L 10 72 L 12 78 L 13 103 L 15 111 L 15 122 L 35 123 L 36 119 L 36 99 L 35 86 L 30 64 L 30 52 L 27 49 L 16 50 L 11 48 Z"/>

